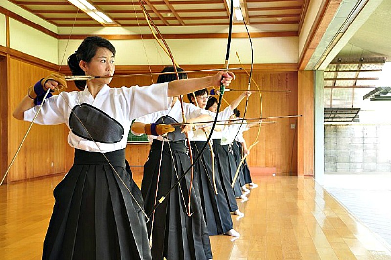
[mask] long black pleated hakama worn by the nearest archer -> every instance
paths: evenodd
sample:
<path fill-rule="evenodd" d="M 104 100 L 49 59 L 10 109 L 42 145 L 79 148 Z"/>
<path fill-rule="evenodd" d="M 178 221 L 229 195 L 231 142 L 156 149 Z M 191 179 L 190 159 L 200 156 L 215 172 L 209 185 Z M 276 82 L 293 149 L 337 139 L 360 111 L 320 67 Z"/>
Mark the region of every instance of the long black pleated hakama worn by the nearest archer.
<path fill-rule="evenodd" d="M 105 155 L 120 178 L 102 153 L 75 149 L 72 168 L 53 192 L 42 259 L 152 259 L 137 205 L 143 205 L 141 192 L 125 168 L 125 149 Z"/>

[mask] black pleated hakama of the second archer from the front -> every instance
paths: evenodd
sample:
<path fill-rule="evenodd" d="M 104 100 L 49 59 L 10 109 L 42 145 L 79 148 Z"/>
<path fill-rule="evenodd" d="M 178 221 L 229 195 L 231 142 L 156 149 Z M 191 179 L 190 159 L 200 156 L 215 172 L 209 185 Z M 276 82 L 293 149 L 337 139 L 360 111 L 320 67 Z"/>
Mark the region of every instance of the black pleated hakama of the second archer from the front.
<path fill-rule="evenodd" d="M 171 151 L 170 151 L 171 147 Z M 159 177 L 157 199 L 160 199 L 190 167 L 184 141 L 164 142 L 163 156 Z M 154 140 L 148 161 L 144 165 L 144 176 L 141 192 L 144 206 L 149 213 L 156 196 L 156 184 L 159 173 L 162 141 Z M 176 169 L 176 172 L 175 172 Z M 178 174 L 178 176 L 177 176 Z M 209 234 L 199 202 L 196 178 L 191 194 L 191 217 L 187 216 L 188 192 L 191 173 L 180 182 L 180 186 L 166 197 L 156 209 L 152 231 L 152 258 L 161 260 L 206 260 L 212 258 Z M 148 234 L 151 234 L 152 218 L 147 223 Z"/>

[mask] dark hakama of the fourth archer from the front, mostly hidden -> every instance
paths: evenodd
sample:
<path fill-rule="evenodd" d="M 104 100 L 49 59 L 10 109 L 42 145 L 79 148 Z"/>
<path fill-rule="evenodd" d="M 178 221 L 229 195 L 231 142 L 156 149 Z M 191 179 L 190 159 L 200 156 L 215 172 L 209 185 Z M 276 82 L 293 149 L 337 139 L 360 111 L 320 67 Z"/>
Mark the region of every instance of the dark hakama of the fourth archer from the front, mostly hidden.
<path fill-rule="evenodd" d="M 215 171 L 220 176 L 221 187 L 223 189 L 223 194 L 228 204 L 229 211 L 234 212 L 238 209 L 238 205 L 236 204 L 234 190 L 231 187 L 231 170 L 228 164 L 228 155 L 220 144 L 221 139 L 213 139 L 213 152 L 215 153 L 215 161 L 217 166 L 215 167 Z"/>

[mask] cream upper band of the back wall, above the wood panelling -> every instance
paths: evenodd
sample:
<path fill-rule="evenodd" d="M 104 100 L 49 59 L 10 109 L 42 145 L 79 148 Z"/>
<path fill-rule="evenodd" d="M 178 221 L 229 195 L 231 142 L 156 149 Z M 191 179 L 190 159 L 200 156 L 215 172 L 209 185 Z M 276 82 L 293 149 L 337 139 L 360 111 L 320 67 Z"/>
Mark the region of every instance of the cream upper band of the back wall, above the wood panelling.
<path fill-rule="evenodd" d="M 65 52 L 66 58 L 80 45 L 82 40 L 59 40 L 59 62 Z M 157 45 L 156 40 L 112 40 L 117 50 L 117 65 L 158 65 L 170 64 L 167 55 Z M 178 64 L 224 64 L 227 39 L 168 39 L 167 43 Z M 273 37 L 253 39 L 254 63 L 297 63 L 298 37 Z M 145 50 L 144 50 L 145 47 Z M 249 40 L 233 39 L 231 42 L 230 63 L 239 63 L 238 52 L 243 63 L 251 62 Z M 146 54 L 147 53 L 147 54 Z M 148 57 L 148 60 L 147 60 Z"/>

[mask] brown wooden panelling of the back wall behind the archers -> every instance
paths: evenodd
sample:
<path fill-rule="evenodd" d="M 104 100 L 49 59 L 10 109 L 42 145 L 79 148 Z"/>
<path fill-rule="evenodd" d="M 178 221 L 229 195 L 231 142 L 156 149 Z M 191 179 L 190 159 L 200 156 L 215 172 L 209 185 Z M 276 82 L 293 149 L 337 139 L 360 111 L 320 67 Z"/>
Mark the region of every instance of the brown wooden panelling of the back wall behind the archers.
<path fill-rule="evenodd" d="M 162 67 L 163 68 L 163 67 Z M 189 77 L 207 76 L 208 74 L 192 74 Z M 284 92 L 264 92 L 261 93 L 263 101 L 262 117 L 286 116 L 297 114 L 297 72 L 255 72 L 253 78 L 262 90 L 290 90 L 290 93 Z M 156 78 L 154 77 L 156 81 Z M 248 77 L 244 73 L 237 73 L 237 79 L 230 86 L 233 89 L 247 88 Z M 150 76 L 115 78 L 111 82 L 112 87 L 146 86 L 152 84 Z M 255 85 L 252 89 L 256 89 Z M 226 92 L 224 98 L 231 102 L 240 92 Z M 187 98 L 185 98 L 187 101 Z M 256 118 L 260 116 L 260 97 L 258 93 L 251 95 L 248 104 L 246 118 Z M 227 106 L 223 103 L 222 109 Z M 239 105 L 239 110 L 244 113 L 245 100 Z M 296 118 L 277 119 L 277 124 L 263 125 L 259 143 L 253 148 L 248 163 L 256 167 L 276 167 L 277 173 L 288 174 L 292 171 L 293 175 L 297 173 L 297 136 L 295 129 L 290 129 L 290 124 L 295 124 Z M 257 135 L 258 128 L 251 128 L 245 132 L 244 137 L 247 145 L 251 145 Z M 143 165 L 148 157 L 149 146 L 145 145 L 140 149 L 140 145 L 128 145 L 127 155 L 131 154 L 130 165 Z M 293 148 L 293 156 L 292 156 Z M 137 151 L 133 153 L 131 151 Z M 291 165 L 292 159 L 292 165 Z"/>

